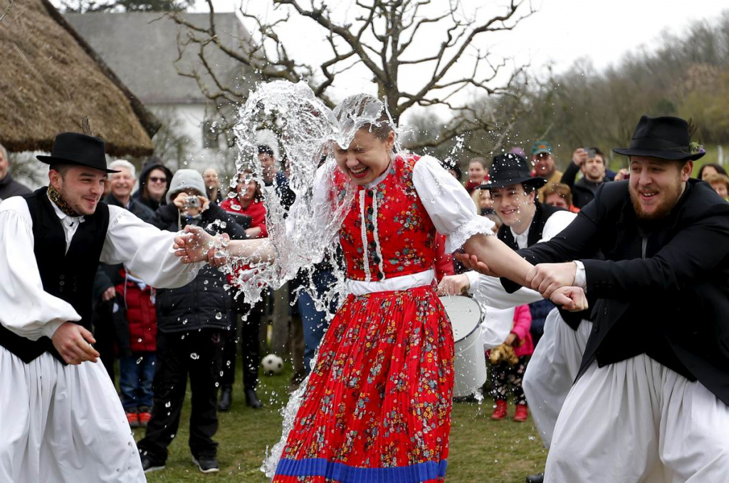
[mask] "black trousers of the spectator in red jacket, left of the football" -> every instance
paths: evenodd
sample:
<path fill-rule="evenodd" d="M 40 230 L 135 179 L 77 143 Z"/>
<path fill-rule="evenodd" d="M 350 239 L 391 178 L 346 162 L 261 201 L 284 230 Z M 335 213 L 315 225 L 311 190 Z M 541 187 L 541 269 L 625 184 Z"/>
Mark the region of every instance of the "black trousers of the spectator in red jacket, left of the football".
<path fill-rule="evenodd" d="M 240 298 L 238 298 L 240 300 Z M 238 352 L 237 325 L 241 325 L 241 352 L 243 353 L 243 387 L 255 389 L 258 385 L 258 366 L 261 362 L 260 342 L 258 332 L 261 327 L 265 299 L 257 302 L 253 307 L 245 302 L 233 301 L 230 316 L 235 320 L 230 331 L 225 333 L 225 347 L 222 356 L 223 375 L 220 378 L 222 387 L 232 387 L 235 382 L 235 356 Z M 250 312 L 249 312 L 250 311 Z M 248 314 L 246 320 L 241 316 Z"/>

